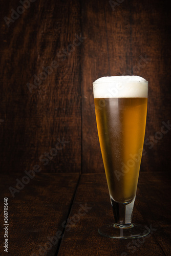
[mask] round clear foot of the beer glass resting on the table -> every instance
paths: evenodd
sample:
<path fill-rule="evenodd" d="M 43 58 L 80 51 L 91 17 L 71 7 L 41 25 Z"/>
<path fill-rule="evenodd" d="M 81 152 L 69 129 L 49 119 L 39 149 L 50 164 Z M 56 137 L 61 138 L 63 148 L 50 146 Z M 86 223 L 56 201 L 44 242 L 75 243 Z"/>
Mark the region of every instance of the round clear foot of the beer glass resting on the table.
<path fill-rule="evenodd" d="M 117 224 L 109 224 L 98 229 L 99 234 L 106 238 L 133 239 L 142 238 L 149 234 L 150 229 L 140 224 L 130 224 L 128 227 Z"/>

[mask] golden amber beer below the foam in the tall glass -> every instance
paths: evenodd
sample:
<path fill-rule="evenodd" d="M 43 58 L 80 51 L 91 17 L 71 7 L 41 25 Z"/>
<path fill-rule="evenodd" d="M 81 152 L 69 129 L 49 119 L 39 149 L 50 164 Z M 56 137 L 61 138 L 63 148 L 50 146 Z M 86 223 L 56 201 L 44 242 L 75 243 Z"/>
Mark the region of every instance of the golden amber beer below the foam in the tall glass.
<path fill-rule="evenodd" d="M 147 98 L 95 98 L 97 129 L 111 199 L 135 199 Z"/>

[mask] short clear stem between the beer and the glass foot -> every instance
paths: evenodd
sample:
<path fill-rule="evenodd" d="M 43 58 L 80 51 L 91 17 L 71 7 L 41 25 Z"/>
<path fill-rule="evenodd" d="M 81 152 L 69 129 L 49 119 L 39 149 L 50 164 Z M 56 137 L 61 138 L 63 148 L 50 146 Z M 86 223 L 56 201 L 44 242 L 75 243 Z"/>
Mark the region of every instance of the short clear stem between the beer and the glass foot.
<path fill-rule="evenodd" d="M 132 224 L 133 208 L 135 198 L 129 203 L 118 203 L 111 198 L 111 204 L 113 208 L 113 214 L 115 218 L 114 227 L 116 228 L 131 228 Z"/>

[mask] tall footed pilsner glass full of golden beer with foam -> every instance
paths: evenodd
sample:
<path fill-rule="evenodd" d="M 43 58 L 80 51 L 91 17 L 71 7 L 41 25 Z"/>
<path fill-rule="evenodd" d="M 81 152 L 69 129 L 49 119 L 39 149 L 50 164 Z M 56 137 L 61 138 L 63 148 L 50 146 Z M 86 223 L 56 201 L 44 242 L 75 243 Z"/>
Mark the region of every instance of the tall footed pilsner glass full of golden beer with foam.
<path fill-rule="evenodd" d="M 101 77 L 93 83 L 97 130 L 115 223 L 104 237 L 140 238 L 146 226 L 132 223 L 145 135 L 148 82 L 139 76 Z"/>

